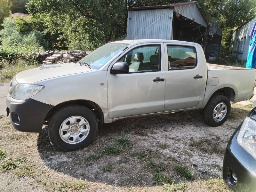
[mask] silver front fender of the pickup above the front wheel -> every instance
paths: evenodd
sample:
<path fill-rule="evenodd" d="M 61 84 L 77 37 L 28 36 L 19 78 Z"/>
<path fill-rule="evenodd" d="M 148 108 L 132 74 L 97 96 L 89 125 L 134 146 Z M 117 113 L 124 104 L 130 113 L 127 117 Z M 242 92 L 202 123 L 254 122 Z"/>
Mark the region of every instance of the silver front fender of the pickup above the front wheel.
<path fill-rule="evenodd" d="M 108 117 L 107 71 L 92 70 L 67 76 L 60 76 L 35 84 L 44 89 L 31 97 L 34 100 L 56 106 L 70 100 L 90 100 L 97 103 Z"/>

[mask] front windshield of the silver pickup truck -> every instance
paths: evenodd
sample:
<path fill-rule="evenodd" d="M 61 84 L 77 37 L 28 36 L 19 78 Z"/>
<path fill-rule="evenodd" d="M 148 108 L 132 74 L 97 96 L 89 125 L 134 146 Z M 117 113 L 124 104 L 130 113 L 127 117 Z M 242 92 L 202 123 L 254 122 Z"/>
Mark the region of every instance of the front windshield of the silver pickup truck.
<path fill-rule="evenodd" d="M 128 44 L 124 43 L 108 43 L 95 51 L 91 52 L 79 62 L 87 63 L 94 69 L 100 69 L 103 65 L 105 65 L 110 59 L 112 59 L 117 53 L 122 51 Z"/>

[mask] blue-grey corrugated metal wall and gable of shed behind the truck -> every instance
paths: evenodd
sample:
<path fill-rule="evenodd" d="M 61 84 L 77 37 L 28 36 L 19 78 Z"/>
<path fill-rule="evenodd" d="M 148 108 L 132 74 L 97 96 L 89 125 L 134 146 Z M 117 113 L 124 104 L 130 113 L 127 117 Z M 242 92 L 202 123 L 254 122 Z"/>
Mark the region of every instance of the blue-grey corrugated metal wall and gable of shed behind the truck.
<path fill-rule="evenodd" d="M 207 28 L 207 21 L 204 19 L 196 1 L 134 7 L 128 10 L 126 39 L 135 39 L 163 14 L 137 39 L 171 39 L 173 11 Z"/>

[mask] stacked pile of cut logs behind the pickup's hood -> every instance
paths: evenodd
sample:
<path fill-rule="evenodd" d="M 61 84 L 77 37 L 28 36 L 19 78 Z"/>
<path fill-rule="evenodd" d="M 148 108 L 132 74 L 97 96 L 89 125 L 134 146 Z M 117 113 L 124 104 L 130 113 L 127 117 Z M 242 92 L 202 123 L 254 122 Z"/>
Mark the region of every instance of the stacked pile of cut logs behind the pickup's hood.
<path fill-rule="evenodd" d="M 36 59 L 42 64 L 69 63 L 81 60 L 90 51 L 46 51 L 35 53 Z"/>

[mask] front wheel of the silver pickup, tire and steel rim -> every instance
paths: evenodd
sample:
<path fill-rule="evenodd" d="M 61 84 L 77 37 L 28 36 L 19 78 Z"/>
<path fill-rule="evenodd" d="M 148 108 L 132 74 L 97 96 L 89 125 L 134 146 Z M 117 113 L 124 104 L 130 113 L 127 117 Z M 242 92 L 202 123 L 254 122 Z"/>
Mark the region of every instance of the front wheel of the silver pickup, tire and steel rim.
<path fill-rule="evenodd" d="M 89 108 L 81 105 L 60 108 L 48 124 L 50 141 L 64 151 L 85 148 L 94 140 L 97 132 L 96 116 Z"/>

